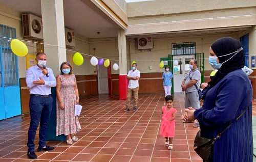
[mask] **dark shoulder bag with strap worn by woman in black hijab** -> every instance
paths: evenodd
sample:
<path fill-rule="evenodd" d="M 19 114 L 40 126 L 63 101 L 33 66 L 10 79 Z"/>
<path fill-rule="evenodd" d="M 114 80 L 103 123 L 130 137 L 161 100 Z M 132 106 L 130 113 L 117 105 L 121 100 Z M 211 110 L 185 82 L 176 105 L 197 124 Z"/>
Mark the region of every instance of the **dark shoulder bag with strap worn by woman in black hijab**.
<path fill-rule="evenodd" d="M 248 109 L 248 107 L 247 107 Z M 247 110 L 246 109 L 246 110 Z M 212 159 L 212 149 L 214 148 L 215 141 L 221 137 L 222 133 L 226 131 L 234 122 L 236 122 L 245 112 L 246 110 L 239 116 L 235 121 L 233 121 L 230 125 L 226 127 L 221 133 L 219 133 L 216 138 L 208 139 L 201 137 L 201 129 L 197 132 L 195 141 L 194 141 L 194 150 L 196 153 L 204 160 L 204 161 L 211 161 Z"/>

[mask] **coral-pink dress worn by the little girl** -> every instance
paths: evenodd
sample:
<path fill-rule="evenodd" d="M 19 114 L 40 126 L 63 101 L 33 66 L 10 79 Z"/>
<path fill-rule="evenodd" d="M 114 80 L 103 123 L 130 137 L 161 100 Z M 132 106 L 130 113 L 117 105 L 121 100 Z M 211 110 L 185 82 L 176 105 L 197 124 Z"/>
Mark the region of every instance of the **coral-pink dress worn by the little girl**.
<path fill-rule="evenodd" d="M 160 133 L 163 137 L 174 137 L 175 131 L 175 119 L 172 121 L 168 121 L 168 119 L 173 117 L 173 112 L 177 113 L 177 110 L 172 107 L 170 110 L 166 110 L 166 106 L 162 106 L 163 110 L 163 118 L 161 122 Z"/>

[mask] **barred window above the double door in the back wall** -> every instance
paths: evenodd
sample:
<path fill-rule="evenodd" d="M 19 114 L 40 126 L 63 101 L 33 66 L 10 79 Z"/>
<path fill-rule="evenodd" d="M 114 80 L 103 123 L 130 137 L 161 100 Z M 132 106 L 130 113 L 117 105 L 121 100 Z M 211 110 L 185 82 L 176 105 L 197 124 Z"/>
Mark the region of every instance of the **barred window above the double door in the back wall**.
<path fill-rule="evenodd" d="M 196 42 L 172 44 L 172 55 L 190 55 L 194 53 L 196 53 Z"/>

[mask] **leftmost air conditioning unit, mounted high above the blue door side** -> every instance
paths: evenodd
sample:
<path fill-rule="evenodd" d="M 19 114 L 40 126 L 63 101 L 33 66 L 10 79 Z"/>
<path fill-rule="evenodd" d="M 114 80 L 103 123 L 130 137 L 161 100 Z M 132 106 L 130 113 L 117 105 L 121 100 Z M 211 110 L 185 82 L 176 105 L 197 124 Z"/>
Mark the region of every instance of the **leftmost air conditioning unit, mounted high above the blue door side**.
<path fill-rule="evenodd" d="M 22 15 L 23 37 L 25 39 L 43 40 L 42 18 L 30 13 Z"/>

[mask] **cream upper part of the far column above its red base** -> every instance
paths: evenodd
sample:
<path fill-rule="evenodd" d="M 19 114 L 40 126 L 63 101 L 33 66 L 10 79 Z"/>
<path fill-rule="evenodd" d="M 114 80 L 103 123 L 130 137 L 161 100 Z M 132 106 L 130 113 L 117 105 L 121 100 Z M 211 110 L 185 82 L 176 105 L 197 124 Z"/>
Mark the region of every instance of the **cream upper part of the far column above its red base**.
<path fill-rule="evenodd" d="M 127 74 L 126 37 L 124 30 L 118 30 L 119 74 Z"/>

